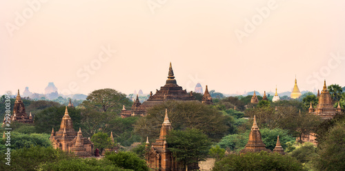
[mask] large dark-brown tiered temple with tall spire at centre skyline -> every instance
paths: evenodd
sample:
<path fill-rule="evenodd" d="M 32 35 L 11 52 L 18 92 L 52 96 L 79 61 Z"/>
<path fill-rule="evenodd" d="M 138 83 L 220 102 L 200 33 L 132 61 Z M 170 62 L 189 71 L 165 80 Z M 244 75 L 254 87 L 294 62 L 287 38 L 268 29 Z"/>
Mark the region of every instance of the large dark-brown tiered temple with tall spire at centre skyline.
<path fill-rule="evenodd" d="M 166 85 L 161 86 L 160 90 L 156 89 L 156 93 L 152 94 L 150 92 L 150 97 L 148 97 L 147 101 L 143 103 L 137 100 L 132 105 L 131 110 L 126 110 L 123 108 L 121 111 L 121 117 L 130 117 L 130 116 L 137 116 L 137 115 L 146 115 L 147 109 L 163 103 L 164 101 L 196 101 L 195 97 L 193 97 L 193 92 L 187 92 L 187 90 L 183 90 L 181 86 L 177 85 L 177 81 L 174 76 L 174 71 L 172 70 L 172 66 L 170 63 L 169 72 L 168 72 L 168 79 L 166 80 Z"/>

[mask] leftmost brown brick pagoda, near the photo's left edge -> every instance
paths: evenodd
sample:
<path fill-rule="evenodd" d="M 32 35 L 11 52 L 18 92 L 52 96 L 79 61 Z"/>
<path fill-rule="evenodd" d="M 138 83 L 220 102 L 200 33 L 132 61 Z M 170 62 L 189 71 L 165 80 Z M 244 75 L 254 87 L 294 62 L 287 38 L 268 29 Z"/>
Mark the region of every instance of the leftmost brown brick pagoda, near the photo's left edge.
<path fill-rule="evenodd" d="M 34 123 L 34 119 L 32 118 L 31 112 L 30 116 L 26 114 L 24 103 L 21 100 L 21 95 L 18 94 L 16 97 L 16 101 L 14 101 L 14 106 L 13 106 L 13 114 L 11 116 L 11 121 L 18 121 L 21 123 Z M 6 118 L 3 119 L 3 124 L 6 123 Z"/>

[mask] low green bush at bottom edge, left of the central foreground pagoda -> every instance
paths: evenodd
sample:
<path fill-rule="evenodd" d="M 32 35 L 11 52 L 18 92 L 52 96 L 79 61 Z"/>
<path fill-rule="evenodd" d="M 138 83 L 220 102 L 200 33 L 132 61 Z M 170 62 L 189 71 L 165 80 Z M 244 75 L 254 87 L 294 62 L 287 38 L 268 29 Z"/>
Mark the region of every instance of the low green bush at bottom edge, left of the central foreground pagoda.
<path fill-rule="evenodd" d="M 148 171 L 146 161 L 137 157 L 133 152 L 119 152 L 110 153 L 106 155 L 106 159 L 110 160 L 113 164 L 120 168 L 131 169 L 135 171 Z"/>

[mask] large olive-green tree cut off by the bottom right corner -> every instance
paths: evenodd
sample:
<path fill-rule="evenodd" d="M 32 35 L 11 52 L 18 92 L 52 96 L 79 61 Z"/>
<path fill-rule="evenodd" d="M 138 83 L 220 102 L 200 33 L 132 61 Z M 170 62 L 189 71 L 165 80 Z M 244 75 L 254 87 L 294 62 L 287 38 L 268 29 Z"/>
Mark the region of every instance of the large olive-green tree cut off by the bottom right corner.
<path fill-rule="evenodd" d="M 345 121 L 339 121 L 319 142 L 315 160 L 317 170 L 345 170 Z"/>

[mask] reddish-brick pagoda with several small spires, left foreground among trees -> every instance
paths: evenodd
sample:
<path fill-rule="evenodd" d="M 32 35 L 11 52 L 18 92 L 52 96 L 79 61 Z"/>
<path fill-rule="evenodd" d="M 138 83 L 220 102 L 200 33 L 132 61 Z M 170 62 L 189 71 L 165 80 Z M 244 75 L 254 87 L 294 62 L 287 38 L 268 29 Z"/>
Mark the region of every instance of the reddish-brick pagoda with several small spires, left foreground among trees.
<path fill-rule="evenodd" d="M 52 141 L 53 148 L 59 148 L 65 152 L 73 152 L 78 157 L 91 157 L 94 154 L 93 143 L 90 139 L 83 137 L 80 128 L 79 132 L 73 129 L 72 119 L 68 114 L 67 106 L 59 131 L 55 132 L 54 128 L 52 128 L 49 139 Z"/>

